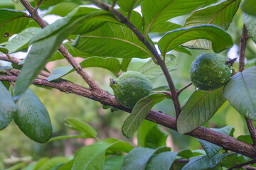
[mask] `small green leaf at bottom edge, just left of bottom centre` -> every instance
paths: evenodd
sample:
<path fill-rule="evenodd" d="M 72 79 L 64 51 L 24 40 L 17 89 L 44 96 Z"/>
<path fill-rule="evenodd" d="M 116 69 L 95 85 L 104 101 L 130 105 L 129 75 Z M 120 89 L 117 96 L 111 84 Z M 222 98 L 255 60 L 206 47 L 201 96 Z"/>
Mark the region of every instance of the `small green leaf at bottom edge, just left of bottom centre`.
<path fill-rule="evenodd" d="M 117 155 L 114 157 L 108 157 L 103 165 L 103 170 L 120 170 L 122 162 L 124 161 L 123 155 Z"/>

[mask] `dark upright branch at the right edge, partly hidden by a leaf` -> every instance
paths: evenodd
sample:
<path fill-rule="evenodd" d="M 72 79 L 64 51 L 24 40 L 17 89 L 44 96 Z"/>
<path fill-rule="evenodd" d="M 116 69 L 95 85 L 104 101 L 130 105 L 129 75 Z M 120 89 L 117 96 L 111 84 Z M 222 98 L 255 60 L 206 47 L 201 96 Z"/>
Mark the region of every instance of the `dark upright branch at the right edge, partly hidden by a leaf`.
<path fill-rule="evenodd" d="M 245 50 L 246 44 L 249 35 L 247 34 L 247 29 L 244 26 L 242 27 L 242 35 L 240 36 L 240 49 L 239 49 L 239 72 L 242 72 L 245 69 Z M 250 136 L 252 137 L 253 144 L 256 145 L 256 129 L 252 120 L 245 117 L 247 128 L 250 132 Z"/>

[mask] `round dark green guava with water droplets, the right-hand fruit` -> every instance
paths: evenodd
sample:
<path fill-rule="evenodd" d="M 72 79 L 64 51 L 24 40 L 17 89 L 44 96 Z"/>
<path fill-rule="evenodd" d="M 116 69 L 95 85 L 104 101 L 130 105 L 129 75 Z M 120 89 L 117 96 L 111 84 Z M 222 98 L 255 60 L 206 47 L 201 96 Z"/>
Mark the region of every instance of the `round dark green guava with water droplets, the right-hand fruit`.
<path fill-rule="evenodd" d="M 231 68 L 226 62 L 228 57 L 203 52 L 191 65 L 190 77 L 193 85 L 206 91 L 223 86 L 231 76 Z"/>

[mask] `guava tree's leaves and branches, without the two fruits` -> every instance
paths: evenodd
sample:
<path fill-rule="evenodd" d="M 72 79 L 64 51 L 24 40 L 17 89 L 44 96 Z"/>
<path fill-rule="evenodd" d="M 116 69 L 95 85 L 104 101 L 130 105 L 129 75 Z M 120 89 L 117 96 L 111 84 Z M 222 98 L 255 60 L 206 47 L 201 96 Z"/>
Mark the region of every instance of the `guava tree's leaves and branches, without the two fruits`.
<path fill-rule="evenodd" d="M 80 148 L 74 157 L 53 157 L 31 164 L 21 162 L 13 169 L 255 169 L 255 63 L 245 69 L 247 40 L 251 38 L 256 42 L 255 1 L 15 1 L 28 13 L 22 11 L 21 6 L 21 11 L 9 9 L 13 6 L 9 6 L 8 0 L 1 3 L 0 60 L 11 62 L 12 67 L 0 67 L 0 129 L 4 130 L 14 120 L 25 135 L 40 143 L 75 137 L 97 140 L 93 145 Z M 82 4 L 94 4 L 98 8 Z M 141 6 L 142 15 L 134 11 L 137 6 Z M 48 9 L 48 14 L 63 18 L 48 25 L 38 15 L 38 8 Z M 191 55 L 191 51 L 198 49 L 214 53 L 227 51 L 237 42 L 227 30 L 238 10 L 242 10 L 243 21 L 238 42 L 239 69 L 234 70 L 225 86 L 213 91 L 196 89 L 181 106 L 179 95 L 191 84 L 176 89 L 175 74 L 173 77 L 170 74 L 176 69 L 172 52 Z M 183 26 L 170 22 L 177 16 L 186 16 Z M 16 37 L 10 38 L 15 34 Z M 154 36 L 161 38 L 154 42 L 151 39 Z M 31 49 L 25 60 L 12 57 L 12 53 L 27 47 Z M 74 57 L 84 60 L 78 63 Z M 127 72 L 132 58 L 149 58 L 139 72 L 149 79 L 164 74 L 168 86 L 156 88 L 156 92 L 129 109 L 104 91 L 83 68 L 102 67 L 118 77 Z M 61 59 L 67 60 L 70 66 L 48 72 L 46 64 Z M 62 79 L 71 72 L 77 72 L 88 87 Z M 208 73 L 205 74 L 208 77 Z M 124 121 L 122 132 L 132 137 L 138 130 L 139 147 L 114 138 L 99 140 L 95 130 L 76 119 L 67 120 L 68 128 L 77 130 L 80 135 L 50 139 L 50 117 L 40 99 L 28 89 L 31 84 L 58 89 L 100 102 L 105 108 L 131 113 Z M 174 105 L 176 118 L 151 109 L 165 98 Z M 202 126 L 226 100 L 245 117 L 250 135 L 235 138 L 233 127 L 209 129 Z M 157 124 L 196 137 L 204 150 L 171 152 L 165 144 L 167 135 Z"/>

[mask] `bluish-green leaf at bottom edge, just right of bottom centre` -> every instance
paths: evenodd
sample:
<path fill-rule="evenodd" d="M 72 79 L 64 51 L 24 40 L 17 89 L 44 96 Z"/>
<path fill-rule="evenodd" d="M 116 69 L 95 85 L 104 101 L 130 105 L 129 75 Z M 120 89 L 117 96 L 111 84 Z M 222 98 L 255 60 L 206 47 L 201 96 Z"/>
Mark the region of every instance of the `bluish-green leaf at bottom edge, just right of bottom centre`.
<path fill-rule="evenodd" d="M 146 170 L 171 169 L 171 164 L 174 163 L 176 155 L 176 152 L 161 152 L 156 154 L 149 159 L 148 164 L 146 164 Z"/>

